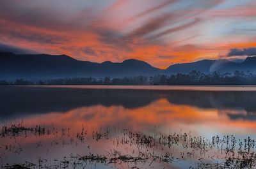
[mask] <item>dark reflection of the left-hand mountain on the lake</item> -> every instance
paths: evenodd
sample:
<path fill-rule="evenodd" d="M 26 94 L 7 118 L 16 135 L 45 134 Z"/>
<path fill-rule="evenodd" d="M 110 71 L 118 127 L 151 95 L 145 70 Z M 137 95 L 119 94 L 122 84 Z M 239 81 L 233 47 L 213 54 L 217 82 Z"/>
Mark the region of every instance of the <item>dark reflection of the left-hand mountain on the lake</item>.
<path fill-rule="evenodd" d="M 2 86 L 0 96 L 2 116 L 17 113 L 67 112 L 73 108 L 92 105 L 137 108 L 157 99 L 157 94 L 152 94 L 152 91 L 12 86 Z"/>

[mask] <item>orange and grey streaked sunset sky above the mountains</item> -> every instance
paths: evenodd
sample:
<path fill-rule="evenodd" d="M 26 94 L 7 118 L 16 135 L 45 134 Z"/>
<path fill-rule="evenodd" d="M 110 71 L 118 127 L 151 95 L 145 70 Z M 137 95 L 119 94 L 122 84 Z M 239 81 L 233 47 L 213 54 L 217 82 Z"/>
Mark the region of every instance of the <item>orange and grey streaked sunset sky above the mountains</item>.
<path fill-rule="evenodd" d="M 0 50 L 157 68 L 256 55 L 255 0 L 1 0 Z"/>

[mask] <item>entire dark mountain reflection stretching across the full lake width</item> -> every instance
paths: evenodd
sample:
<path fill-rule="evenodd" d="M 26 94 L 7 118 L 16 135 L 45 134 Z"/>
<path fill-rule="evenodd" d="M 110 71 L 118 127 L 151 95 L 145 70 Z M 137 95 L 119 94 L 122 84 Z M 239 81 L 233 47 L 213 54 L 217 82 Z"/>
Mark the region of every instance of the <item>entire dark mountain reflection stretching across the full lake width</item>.
<path fill-rule="evenodd" d="M 160 98 L 166 98 L 175 105 L 218 108 L 220 110 L 244 109 L 248 114 L 256 112 L 256 92 L 244 91 L 150 91 L 3 86 L 0 88 L 0 96 L 0 115 L 2 117 L 13 114 L 67 112 L 73 108 L 93 105 L 106 107 L 120 105 L 125 108 L 139 108 Z M 251 116 L 248 115 L 248 117 Z"/>

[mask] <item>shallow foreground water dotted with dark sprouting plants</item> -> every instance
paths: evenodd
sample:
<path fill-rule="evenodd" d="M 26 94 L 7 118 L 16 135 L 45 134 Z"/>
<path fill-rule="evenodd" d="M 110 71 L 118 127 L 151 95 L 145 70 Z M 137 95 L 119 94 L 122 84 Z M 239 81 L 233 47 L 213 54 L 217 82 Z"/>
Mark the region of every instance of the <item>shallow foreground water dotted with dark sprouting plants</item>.
<path fill-rule="evenodd" d="M 98 164 L 118 168 L 118 165 L 128 165 L 129 168 L 149 168 L 150 166 L 175 165 L 194 161 L 190 168 L 255 168 L 256 142 L 254 139 L 239 139 L 233 135 L 196 136 L 193 133 L 145 133 L 131 129 L 88 129 L 82 127 L 80 131 L 69 128 L 55 128 L 52 126 L 29 126 L 24 124 L 4 124 L 1 136 L 1 168 L 86 168 Z M 51 147 L 67 145 L 86 145 L 83 154 L 70 152 L 60 159 L 47 159 L 38 156 L 24 163 L 4 163 L 6 154 L 22 156 L 24 147 L 17 140 L 19 138 L 37 138 L 35 149 L 45 146 L 42 143 L 47 136 L 54 136 Z M 9 142 L 8 142 L 9 140 Z M 15 140 L 11 142 L 10 140 Z M 67 141 L 68 140 L 68 141 Z M 109 145 L 100 152 L 93 152 L 95 143 Z M 18 145 L 18 146 L 17 146 Z M 50 148 L 51 148 L 50 147 Z M 83 146 L 85 147 L 85 146 Z M 107 146 L 108 147 L 108 146 Z M 35 154 L 36 156 L 36 154 Z M 190 162 L 191 163 L 191 162 Z"/>

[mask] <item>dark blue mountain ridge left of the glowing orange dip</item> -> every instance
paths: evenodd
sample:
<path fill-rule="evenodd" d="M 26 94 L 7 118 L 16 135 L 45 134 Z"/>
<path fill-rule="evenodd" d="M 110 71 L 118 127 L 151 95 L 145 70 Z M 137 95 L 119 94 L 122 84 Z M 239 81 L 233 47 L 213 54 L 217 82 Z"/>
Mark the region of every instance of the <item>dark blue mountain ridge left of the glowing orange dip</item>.
<path fill-rule="evenodd" d="M 160 70 L 147 62 L 129 59 L 124 62 L 77 61 L 67 55 L 16 55 L 0 53 L 0 78 L 61 78 L 61 77 L 131 77 L 156 75 Z"/>

